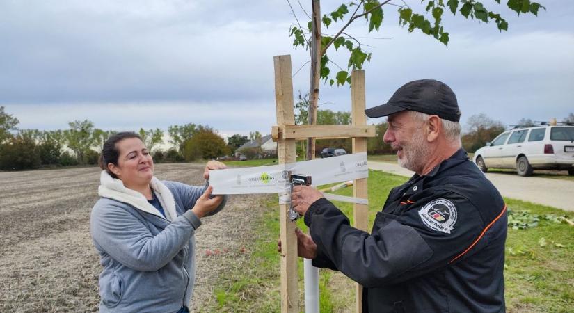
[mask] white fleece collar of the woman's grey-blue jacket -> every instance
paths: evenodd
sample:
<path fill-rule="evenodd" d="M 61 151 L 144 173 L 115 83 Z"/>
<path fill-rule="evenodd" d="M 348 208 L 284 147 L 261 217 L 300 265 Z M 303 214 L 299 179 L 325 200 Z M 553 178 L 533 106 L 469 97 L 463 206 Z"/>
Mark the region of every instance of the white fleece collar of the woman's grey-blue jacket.
<path fill-rule="evenodd" d="M 161 213 L 159 213 L 159 211 L 150 204 L 150 202 L 148 202 L 144 195 L 126 188 L 120 179 L 111 177 L 105 170 L 102 170 L 99 182 L 101 185 L 99 185 L 97 193 L 100 197 L 127 203 L 136 209 L 164 218 L 164 216 L 162 216 Z M 175 220 L 177 217 L 177 214 L 175 213 L 175 200 L 173 199 L 173 194 L 168 187 L 155 177 L 152 178 L 150 187 L 155 191 L 155 195 L 157 196 L 159 203 L 161 203 L 161 207 L 164 208 L 167 220 L 170 222 Z"/>

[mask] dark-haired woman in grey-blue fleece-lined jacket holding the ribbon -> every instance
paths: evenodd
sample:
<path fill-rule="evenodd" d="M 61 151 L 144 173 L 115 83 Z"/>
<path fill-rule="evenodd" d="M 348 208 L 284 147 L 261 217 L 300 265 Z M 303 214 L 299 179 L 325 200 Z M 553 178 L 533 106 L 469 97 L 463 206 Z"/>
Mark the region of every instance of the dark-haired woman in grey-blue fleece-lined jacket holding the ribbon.
<path fill-rule="evenodd" d="M 111 136 L 102 150 L 100 198 L 90 218 L 99 275 L 99 312 L 189 312 L 195 280 L 194 233 L 221 211 L 212 187 L 160 182 L 140 136 Z M 225 168 L 211 161 L 205 167 Z"/>

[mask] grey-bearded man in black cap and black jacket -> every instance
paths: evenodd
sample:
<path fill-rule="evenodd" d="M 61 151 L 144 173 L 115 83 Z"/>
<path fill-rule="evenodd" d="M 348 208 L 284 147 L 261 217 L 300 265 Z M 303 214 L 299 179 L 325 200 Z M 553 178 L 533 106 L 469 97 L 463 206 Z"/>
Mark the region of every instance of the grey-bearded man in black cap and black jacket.
<path fill-rule="evenodd" d="M 461 148 L 461 113 L 440 81 L 411 81 L 365 110 L 388 116 L 383 140 L 416 172 L 393 188 L 371 234 L 321 193 L 296 186 L 298 252 L 361 284 L 363 312 L 504 312 L 506 205 Z"/>

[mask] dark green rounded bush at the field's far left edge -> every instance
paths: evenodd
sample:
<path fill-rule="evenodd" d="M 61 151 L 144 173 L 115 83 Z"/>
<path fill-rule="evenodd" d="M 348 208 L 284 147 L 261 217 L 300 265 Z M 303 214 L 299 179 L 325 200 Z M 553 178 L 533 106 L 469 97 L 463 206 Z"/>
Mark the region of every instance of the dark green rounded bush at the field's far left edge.
<path fill-rule="evenodd" d="M 29 170 L 40 167 L 40 154 L 35 141 L 15 136 L 0 148 L 1 170 Z"/>

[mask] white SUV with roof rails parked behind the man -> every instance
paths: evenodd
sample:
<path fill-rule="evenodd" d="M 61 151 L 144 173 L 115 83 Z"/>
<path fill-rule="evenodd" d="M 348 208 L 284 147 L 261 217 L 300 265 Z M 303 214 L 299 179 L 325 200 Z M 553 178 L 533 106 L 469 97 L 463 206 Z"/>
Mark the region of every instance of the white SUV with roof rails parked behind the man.
<path fill-rule="evenodd" d="M 574 126 L 538 125 L 504 131 L 475 152 L 474 161 L 488 168 L 515 168 L 520 176 L 532 170 L 568 170 L 574 175 Z"/>

